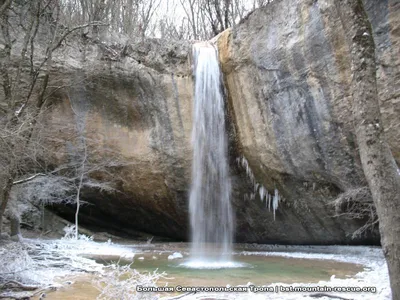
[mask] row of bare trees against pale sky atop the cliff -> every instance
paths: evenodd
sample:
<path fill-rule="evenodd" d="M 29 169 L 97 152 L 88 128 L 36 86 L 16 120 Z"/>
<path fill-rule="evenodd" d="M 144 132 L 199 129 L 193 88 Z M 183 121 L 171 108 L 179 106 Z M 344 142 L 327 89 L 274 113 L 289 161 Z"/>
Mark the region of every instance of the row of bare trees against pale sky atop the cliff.
<path fill-rule="evenodd" d="M 92 27 L 94 36 L 120 34 L 127 38 L 161 36 L 162 38 L 208 40 L 234 26 L 250 11 L 269 0 L 64 0 L 63 22 L 75 26 L 103 22 L 108 28 Z M 177 4 L 183 9 L 179 11 Z M 167 11 L 167 13 L 165 12 Z M 106 31 L 108 29 L 108 32 Z M 85 29 L 86 30 L 86 29 Z M 83 31 L 84 35 L 88 32 Z"/>

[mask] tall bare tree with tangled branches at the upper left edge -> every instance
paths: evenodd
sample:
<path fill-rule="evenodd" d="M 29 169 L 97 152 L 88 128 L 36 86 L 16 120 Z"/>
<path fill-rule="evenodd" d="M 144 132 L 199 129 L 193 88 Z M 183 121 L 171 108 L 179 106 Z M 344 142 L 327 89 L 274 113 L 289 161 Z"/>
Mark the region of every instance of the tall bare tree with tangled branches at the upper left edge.
<path fill-rule="evenodd" d="M 2 43 L 0 75 L 4 99 L 0 115 L 0 234 L 2 218 L 10 199 L 13 182 L 24 175 L 26 152 L 37 121 L 48 98 L 48 83 L 53 65 L 53 52 L 74 31 L 93 22 L 75 27 L 60 24 L 61 7 L 57 0 L 8 1 L 1 5 Z M 41 36 L 39 37 L 38 32 Z M 22 35 L 22 44 L 13 41 L 13 34 Z M 46 37 L 47 44 L 39 42 Z M 39 44 L 41 46 L 39 46 Z M 43 54 L 44 52 L 44 54 Z M 15 68 L 11 62 L 19 58 Z"/>

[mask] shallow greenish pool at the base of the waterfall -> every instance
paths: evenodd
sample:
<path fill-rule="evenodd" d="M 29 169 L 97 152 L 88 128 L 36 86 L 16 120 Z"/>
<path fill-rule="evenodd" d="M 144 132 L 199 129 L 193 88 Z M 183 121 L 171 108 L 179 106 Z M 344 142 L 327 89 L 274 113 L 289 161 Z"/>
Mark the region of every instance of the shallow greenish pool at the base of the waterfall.
<path fill-rule="evenodd" d="M 188 257 L 169 260 L 170 253 L 137 254 L 133 261 L 119 261 L 131 264 L 139 272 L 165 272 L 169 285 L 182 286 L 226 286 L 245 285 L 248 282 L 256 285 L 282 283 L 316 283 L 329 280 L 332 275 L 337 278 L 352 277 L 363 270 L 363 267 L 351 263 L 333 260 L 316 260 L 262 255 L 234 255 L 233 261 L 241 267 L 219 269 L 195 269 L 185 267 Z M 98 257 L 97 262 L 109 264 L 115 262 L 107 257 Z"/>

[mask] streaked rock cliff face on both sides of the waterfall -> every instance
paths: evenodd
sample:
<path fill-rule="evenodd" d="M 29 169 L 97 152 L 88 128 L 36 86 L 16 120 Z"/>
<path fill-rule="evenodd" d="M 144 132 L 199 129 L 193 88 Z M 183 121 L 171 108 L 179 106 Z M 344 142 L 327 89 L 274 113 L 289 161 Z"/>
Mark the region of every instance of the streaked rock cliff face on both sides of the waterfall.
<path fill-rule="evenodd" d="M 365 220 L 333 218 L 329 204 L 366 183 L 352 126 L 349 51 L 328 2 L 275 0 L 218 37 L 238 242 L 378 242 L 377 231 L 352 240 Z M 400 5 L 371 0 L 366 7 L 384 125 L 400 161 Z M 94 205 L 82 210 L 82 223 L 188 238 L 190 53 L 189 42 L 151 40 L 120 48 L 79 43 L 55 57 L 53 81 L 69 87 L 55 94 L 58 103 L 46 117 L 46 132 L 59 137 L 51 145 L 53 164 L 66 159 L 64 141 L 74 131 L 67 125 L 76 122 L 71 102 L 86 112 L 93 159 L 119 158 L 96 175 L 112 179 L 118 192 L 84 190 L 84 200 Z M 259 193 L 253 196 L 254 182 L 236 163 L 241 156 L 256 183 L 279 190 L 275 220 Z"/>

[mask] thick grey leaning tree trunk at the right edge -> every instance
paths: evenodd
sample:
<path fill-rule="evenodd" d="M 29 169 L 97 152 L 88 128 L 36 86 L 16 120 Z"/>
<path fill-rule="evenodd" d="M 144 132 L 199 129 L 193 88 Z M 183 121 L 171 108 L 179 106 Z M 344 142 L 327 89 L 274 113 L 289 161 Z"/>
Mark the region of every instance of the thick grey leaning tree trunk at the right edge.
<path fill-rule="evenodd" d="M 400 299 L 400 175 L 385 141 L 376 84 L 375 45 L 362 0 L 335 0 L 351 50 L 353 117 L 361 163 L 379 217 L 392 297 Z"/>

